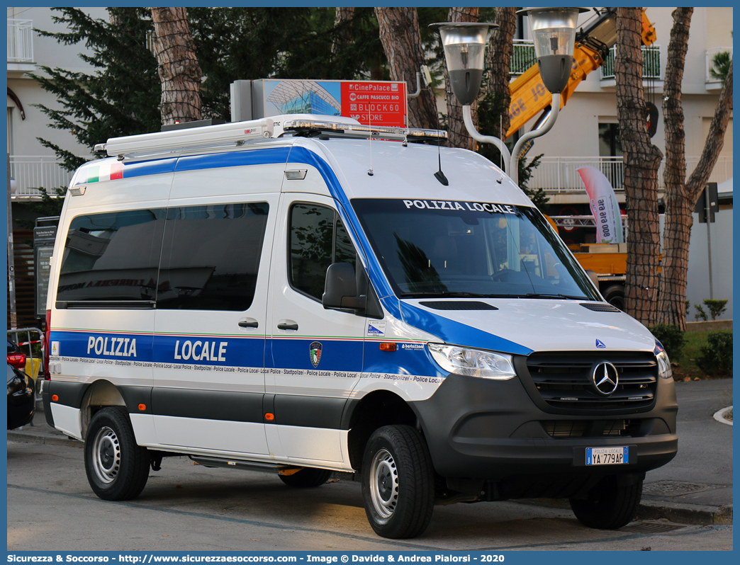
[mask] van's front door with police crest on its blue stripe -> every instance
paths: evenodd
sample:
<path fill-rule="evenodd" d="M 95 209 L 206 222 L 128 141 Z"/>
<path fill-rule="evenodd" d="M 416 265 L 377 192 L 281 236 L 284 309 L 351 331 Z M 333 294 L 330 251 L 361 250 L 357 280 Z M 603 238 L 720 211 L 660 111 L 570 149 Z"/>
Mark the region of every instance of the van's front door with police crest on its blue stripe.
<path fill-rule="evenodd" d="M 272 251 L 266 349 L 270 452 L 306 464 L 342 461 L 344 405 L 360 379 L 366 318 L 321 304 L 332 263 L 361 267 L 330 197 L 288 193 Z"/>

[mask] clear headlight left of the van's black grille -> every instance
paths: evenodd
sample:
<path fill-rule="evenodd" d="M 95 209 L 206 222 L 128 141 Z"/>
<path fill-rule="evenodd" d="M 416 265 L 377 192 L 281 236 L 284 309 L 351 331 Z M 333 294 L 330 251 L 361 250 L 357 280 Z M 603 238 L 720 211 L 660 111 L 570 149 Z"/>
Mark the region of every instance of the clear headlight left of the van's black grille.
<path fill-rule="evenodd" d="M 517 376 L 511 355 L 480 349 L 461 348 L 457 345 L 428 343 L 427 348 L 437 365 L 448 373 L 480 376 L 483 379 L 505 381 Z"/>

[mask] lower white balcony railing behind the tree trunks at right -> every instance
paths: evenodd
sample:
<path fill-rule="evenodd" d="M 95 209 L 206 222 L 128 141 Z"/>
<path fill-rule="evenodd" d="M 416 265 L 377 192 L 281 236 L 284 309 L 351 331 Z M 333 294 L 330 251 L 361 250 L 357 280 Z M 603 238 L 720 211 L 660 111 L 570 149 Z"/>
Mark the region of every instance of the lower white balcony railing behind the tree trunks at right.
<path fill-rule="evenodd" d="M 690 175 L 699 163 L 698 157 L 686 158 L 686 173 Z M 542 157 L 539 166 L 534 169 L 528 187 L 542 189 L 545 192 L 583 192 L 584 186 L 577 169 L 592 166 L 599 169 L 608 178 L 616 191 L 625 189 L 625 163 L 621 157 Z M 658 186 L 663 189 L 663 170 L 665 163 L 658 169 Z M 707 182 L 721 183 L 733 177 L 733 158 L 720 157 Z"/>

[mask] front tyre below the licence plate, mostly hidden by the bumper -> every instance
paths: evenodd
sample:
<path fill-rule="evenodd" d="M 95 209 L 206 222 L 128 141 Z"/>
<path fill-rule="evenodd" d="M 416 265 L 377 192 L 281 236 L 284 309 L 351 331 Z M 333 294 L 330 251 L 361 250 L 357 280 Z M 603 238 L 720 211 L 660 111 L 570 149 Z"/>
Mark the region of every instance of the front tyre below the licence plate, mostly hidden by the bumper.
<path fill-rule="evenodd" d="M 616 530 L 630 523 L 642 498 L 642 481 L 619 487 L 616 477 L 606 477 L 593 487 L 588 498 L 571 498 L 578 521 L 596 530 Z"/>

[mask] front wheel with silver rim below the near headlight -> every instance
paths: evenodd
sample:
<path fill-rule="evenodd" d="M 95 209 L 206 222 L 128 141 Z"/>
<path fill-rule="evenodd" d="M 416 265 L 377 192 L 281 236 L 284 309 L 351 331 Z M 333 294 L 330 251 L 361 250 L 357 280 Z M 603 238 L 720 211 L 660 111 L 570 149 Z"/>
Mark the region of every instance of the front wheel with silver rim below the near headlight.
<path fill-rule="evenodd" d="M 434 468 L 413 427 L 380 427 L 370 436 L 363 456 L 363 498 L 377 535 L 414 538 L 426 530 L 434 510 Z"/>

